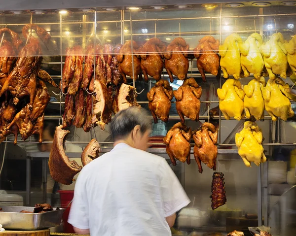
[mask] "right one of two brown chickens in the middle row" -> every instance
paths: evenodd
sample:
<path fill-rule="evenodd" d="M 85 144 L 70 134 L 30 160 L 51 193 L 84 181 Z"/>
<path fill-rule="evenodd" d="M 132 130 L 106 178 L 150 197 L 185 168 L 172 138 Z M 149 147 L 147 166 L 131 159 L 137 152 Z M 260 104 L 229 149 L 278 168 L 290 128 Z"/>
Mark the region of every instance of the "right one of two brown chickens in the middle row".
<path fill-rule="evenodd" d="M 182 124 L 185 123 L 184 116 L 193 121 L 199 120 L 200 97 L 202 88 L 196 83 L 194 78 L 185 79 L 183 85 L 176 91 L 176 109 L 181 118 Z"/>

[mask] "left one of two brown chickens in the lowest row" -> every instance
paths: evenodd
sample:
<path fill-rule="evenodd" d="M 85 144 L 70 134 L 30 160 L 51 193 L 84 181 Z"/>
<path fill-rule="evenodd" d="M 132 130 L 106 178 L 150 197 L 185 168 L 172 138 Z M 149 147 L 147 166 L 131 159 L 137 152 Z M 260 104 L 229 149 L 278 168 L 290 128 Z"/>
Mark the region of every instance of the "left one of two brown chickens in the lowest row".
<path fill-rule="evenodd" d="M 176 160 L 190 164 L 190 143 L 192 131 L 181 122 L 175 124 L 163 138 L 166 144 L 166 151 L 169 155 L 173 166 L 176 166 Z"/>

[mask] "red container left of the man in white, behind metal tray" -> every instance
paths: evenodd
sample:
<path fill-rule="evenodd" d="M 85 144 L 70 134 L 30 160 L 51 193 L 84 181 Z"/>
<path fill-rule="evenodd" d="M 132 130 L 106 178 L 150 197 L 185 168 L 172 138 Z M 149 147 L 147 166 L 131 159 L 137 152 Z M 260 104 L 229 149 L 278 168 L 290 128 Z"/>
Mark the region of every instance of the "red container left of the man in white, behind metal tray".
<path fill-rule="evenodd" d="M 59 190 L 58 193 L 60 194 L 61 207 L 66 208 L 68 206 L 68 204 L 74 198 L 74 191 L 73 190 Z M 71 204 L 65 210 L 65 212 L 63 214 L 64 233 L 74 234 L 75 232 L 74 232 L 73 226 L 68 223 L 70 208 L 71 208 Z"/>

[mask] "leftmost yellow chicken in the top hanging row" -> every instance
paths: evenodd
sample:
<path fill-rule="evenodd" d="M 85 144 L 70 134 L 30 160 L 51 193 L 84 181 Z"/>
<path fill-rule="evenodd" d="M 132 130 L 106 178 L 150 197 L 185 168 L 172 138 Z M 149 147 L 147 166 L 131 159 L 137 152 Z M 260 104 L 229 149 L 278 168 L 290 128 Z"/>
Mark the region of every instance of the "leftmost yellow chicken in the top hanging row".
<path fill-rule="evenodd" d="M 238 34 L 230 34 L 225 38 L 223 45 L 219 46 L 219 54 L 221 56 L 220 66 L 224 78 L 233 75 L 235 79 L 239 79 L 241 76 L 240 43 L 242 43 L 242 39 Z"/>

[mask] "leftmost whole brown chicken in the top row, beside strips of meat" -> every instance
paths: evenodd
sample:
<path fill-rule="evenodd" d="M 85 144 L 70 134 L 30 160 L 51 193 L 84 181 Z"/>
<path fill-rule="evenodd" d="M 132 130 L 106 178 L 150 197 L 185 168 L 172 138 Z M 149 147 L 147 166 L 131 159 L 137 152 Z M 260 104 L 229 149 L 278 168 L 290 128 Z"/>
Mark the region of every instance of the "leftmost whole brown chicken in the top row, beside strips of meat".
<path fill-rule="evenodd" d="M 138 44 L 133 41 L 133 53 L 134 53 L 134 76 L 133 76 L 133 64 L 132 64 L 132 49 L 131 40 L 126 41 L 119 50 L 117 55 L 117 61 L 119 62 L 119 71 L 126 81 L 126 76 L 130 76 L 132 79 L 137 80 L 141 73 L 140 63 L 141 59 L 138 55 Z"/>

